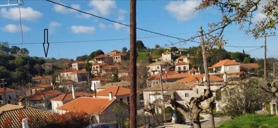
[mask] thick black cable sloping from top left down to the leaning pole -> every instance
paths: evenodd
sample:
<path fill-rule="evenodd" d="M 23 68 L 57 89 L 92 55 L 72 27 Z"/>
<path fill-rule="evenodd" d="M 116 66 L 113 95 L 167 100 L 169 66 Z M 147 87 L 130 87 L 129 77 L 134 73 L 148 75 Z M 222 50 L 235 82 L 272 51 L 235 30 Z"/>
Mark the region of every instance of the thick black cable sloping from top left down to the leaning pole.
<path fill-rule="evenodd" d="M 97 15 L 94 15 L 94 14 L 92 14 L 92 13 L 84 12 L 84 11 L 82 11 L 82 10 L 75 9 L 75 8 L 72 8 L 72 7 L 69 7 L 69 6 L 66 6 L 66 5 L 57 3 L 57 2 L 53 2 L 53 1 L 50 1 L 50 0 L 46 0 L 46 1 L 48 1 L 48 2 L 50 2 L 50 3 L 53 3 L 53 4 L 57 4 L 57 5 L 63 6 L 63 7 L 66 7 L 66 8 L 69 8 L 69 9 L 73 9 L 73 10 L 75 10 L 75 11 L 78 11 L 78 12 L 81 12 L 81 13 L 84 13 L 84 14 L 92 15 L 92 16 L 97 17 L 97 18 L 100 18 L 100 19 L 108 20 L 108 21 L 111 21 L 111 22 L 115 22 L 115 23 L 124 25 L 124 26 L 126 26 L 126 27 L 130 27 L 130 25 L 128 25 L 128 24 L 124 24 L 124 23 L 121 23 L 121 22 L 118 22 L 118 21 L 114 21 L 114 20 L 111 20 L 111 19 L 108 19 L 108 18 L 104 18 L 104 17 L 101 17 L 101 16 L 97 16 Z M 182 39 L 182 38 L 178 38 L 178 37 L 174 37 L 174 36 L 169 36 L 169 35 L 165 35 L 165 34 L 153 32 L 153 31 L 149 31 L 149 30 L 145 30 L 145 29 L 141 29 L 141 28 L 136 28 L 136 29 L 141 30 L 141 31 L 145 31 L 145 32 L 149 32 L 149 33 L 153 33 L 153 34 L 157 34 L 157 35 L 161 35 L 161 36 L 166 36 L 166 37 L 170 37 L 170 38 L 175 38 L 175 39 L 178 39 L 178 40 L 185 40 L 185 39 Z M 191 40 L 186 40 L 186 41 L 191 41 Z M 191 42 L 196 42 L 196 41 L 191 41 Z"/>

